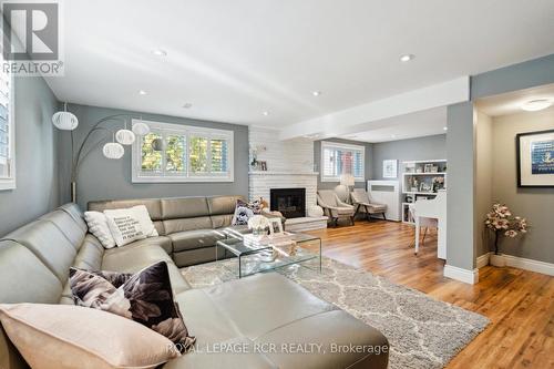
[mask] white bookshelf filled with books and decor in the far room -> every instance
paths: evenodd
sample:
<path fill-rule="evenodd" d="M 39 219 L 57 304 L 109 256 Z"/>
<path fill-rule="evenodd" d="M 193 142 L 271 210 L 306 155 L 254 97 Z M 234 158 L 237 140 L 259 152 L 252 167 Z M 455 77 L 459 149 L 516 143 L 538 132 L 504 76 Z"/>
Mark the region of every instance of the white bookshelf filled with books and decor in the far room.
<path fill-rule="evenodd" d="M 402 222 L 413 224 L 410 204 L 418 198 L 432 199 L 447 188 L 447 160 L 402 162 Z"/>

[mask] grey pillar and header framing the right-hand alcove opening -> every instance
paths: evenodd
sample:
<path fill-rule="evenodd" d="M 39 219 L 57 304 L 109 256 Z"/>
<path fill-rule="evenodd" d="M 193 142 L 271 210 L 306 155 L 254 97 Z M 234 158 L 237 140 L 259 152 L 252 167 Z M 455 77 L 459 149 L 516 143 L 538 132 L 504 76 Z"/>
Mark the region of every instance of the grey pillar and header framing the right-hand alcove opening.
<path fill-rule="evenodd" d="M 554 83 L 554 54 L 510 65 L 471 78 L 471 102 L 448 109 L 447 158 L 449 161 L 448 259 L 456 267 L 473 269 L 479 254 L 479 229 L 483 214 L 478 205 L 478 141 L 473 102 L 511 91 Z"/>

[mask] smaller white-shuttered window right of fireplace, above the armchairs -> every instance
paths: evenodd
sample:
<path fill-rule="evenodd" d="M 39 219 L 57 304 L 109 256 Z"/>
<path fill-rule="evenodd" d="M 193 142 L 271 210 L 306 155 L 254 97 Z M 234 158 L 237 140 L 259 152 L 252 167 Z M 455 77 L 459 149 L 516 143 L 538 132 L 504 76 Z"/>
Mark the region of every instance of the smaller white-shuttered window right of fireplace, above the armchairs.
<path fill-rule="evenodd" d="M 356 181 L 366 181 L 366 147 L 335 142 L 321 142 L 321 181 L 339 182 L 341 174 L 351 174 Z"/>

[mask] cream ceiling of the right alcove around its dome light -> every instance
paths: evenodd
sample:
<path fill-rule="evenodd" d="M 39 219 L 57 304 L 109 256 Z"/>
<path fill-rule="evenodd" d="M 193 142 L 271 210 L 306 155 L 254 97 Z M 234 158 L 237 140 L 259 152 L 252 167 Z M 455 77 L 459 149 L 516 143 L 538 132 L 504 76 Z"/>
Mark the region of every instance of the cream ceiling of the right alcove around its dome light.
<path fill-rule="evenodd" d="M 554 84 L 480 99 L 476 107 L 489 116 L 522 113 L 521 106 L 532 100 L 548 100 L 554 104 Z"/>

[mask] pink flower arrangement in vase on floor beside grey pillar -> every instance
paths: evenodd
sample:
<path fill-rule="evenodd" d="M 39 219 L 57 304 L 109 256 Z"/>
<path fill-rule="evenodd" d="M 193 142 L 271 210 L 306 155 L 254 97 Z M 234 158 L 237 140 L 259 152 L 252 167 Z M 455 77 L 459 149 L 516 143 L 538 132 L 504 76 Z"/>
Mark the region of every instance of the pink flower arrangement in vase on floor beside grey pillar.
<path fill-rule="evenodd" d="M 494 232 L 494 255 L 491 255 L 491 265 L 503 267 L 506 260 L 499 254 L 499 242 L 502 236 L 515 238 L 520 234 L 527 233 L 527 221 L 520 216 L 513 216 L 506 205 L 499 203 L 492 206 L 492 211 L 486 214 L 485 226 Z"/>

